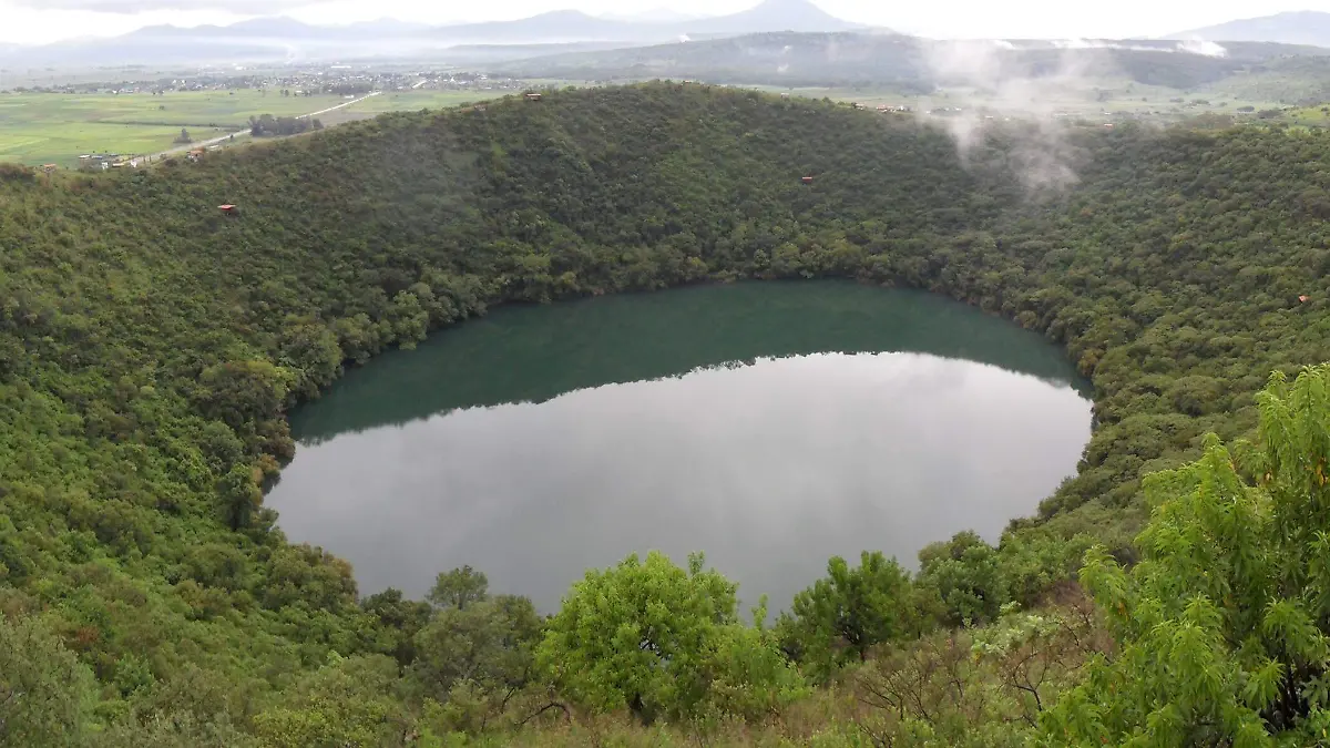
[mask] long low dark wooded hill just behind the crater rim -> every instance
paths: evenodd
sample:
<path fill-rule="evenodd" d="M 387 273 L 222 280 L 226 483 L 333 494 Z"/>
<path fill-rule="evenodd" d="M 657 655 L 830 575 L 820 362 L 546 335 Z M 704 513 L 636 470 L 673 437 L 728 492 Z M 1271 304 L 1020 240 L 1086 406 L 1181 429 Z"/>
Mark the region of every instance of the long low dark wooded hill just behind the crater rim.
<path fill-rule="evenodd" d="M 1177 41 L 934 41 L 887 32 L 762 33 L 726 39 L 527 57 L 496 64 L 524 77 L 584 80 L 702 79 L 765 85 L 874 84 L 906 93 L 939 85 L 996 85 L 1071 76 L 1193 89 L 1245 75 L 1270 60 L 1330 51 L 1232 44 L 1193 53 Z"/>

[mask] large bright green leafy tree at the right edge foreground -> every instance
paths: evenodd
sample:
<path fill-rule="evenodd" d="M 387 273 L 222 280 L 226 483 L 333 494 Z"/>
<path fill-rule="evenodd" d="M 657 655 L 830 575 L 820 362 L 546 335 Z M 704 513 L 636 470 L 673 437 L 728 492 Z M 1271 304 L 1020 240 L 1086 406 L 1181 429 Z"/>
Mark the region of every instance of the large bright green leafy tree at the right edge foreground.
<path fill-rule="evenodd" d="M 1261 449 L 1216 437 L 1152 475 L 1129 572 L 1081 578 L 1120 643 L 1044 717 L 1049 744 L 1318 745 L 1330 733 L 1330 366 L 1258 395 Z"/>

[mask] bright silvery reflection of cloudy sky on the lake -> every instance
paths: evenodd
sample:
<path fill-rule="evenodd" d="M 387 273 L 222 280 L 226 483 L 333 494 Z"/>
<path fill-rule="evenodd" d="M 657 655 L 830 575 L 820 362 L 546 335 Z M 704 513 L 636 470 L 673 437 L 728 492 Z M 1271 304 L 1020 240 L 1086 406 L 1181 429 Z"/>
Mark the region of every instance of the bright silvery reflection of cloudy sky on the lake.
<path fill-rule="evenodd" d="M 419 596 L 469 563 L 549 611 L 585 568 L 702 550 L 745 600 L 783 607 L 831 555 L 996 539 L 1073 471 L 1089 407 L 935 355 L 758 358 L 323 437 L 269 503 L 362 594 Z"/>

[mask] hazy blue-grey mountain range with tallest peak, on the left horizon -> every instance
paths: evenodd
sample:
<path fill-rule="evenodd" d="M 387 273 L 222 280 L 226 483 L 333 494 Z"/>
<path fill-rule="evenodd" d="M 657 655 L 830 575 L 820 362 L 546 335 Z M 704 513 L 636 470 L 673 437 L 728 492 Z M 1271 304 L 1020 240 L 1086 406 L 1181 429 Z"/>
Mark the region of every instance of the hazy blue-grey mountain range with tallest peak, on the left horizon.
<path fill-rule="evenodd" d="M 323 27 L 287 17 L 265 17 L 226 27 L 158 25 L 113 39 L 0 48 L 0 65 L 124 67 L 347 60 L 420 56 L 456 45 L 616 43 L 633 47 L 755 32 L 837 32 L 855 28 L 861 27 L 826 13 L 810 0 L 765 0 L 739 13 L 686 20 L 661 11 L 645 13 L 645 20 L 555 11 L 515 21 L 442 27 L 396 20 Z"/>

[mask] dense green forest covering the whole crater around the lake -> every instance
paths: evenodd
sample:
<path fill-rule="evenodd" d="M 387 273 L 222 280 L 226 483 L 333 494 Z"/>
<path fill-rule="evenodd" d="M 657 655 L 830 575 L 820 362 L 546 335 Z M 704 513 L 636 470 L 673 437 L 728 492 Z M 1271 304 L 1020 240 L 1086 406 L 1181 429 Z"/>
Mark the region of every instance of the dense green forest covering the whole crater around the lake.
<path fill-rule="evenodd" d="M 1047 137 L 962 157 L 908 118 L 652 84 L 0 165 L 0 745 L 1309 744 L 1330 137 Z M 996 547 L 831 559 L 755 623 L 702 558 L 591 571 L 548 619 L 483 570 L 360 599 L 262 506 L 285 413 L 434 327 L 822 276 L 1064 345 L 1095 385 L 1077 474 Z"/>

